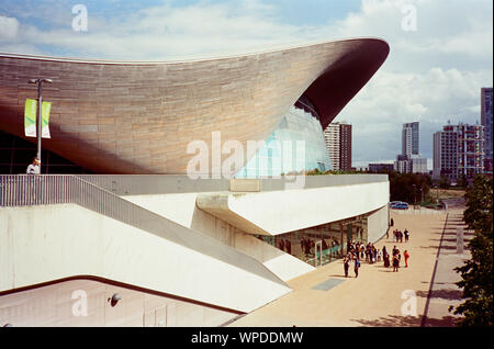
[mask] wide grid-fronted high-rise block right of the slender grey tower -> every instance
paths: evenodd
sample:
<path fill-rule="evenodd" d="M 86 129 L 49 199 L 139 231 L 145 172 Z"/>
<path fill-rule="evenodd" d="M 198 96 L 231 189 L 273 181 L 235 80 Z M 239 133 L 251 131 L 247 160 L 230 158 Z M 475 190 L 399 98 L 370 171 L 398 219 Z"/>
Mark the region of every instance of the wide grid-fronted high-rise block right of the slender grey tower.
<path fill-rule="evenodd" d="M 472 179 L 484 167 L 484 126 L 446 125 L 434 134 L 435 179 L 457 181 L 462 174 Z"/>

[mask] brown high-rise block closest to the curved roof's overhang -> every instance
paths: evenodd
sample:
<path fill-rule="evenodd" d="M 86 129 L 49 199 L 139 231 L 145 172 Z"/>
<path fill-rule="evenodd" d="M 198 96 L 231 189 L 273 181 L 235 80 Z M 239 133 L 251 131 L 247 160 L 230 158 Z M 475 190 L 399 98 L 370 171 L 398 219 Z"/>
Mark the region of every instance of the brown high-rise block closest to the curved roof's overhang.
<path fill-rule="evenodd" d="M 351 170 L 351 125 L 330 123 L 324 131 L 329 160 L 334 170 Z"/>

